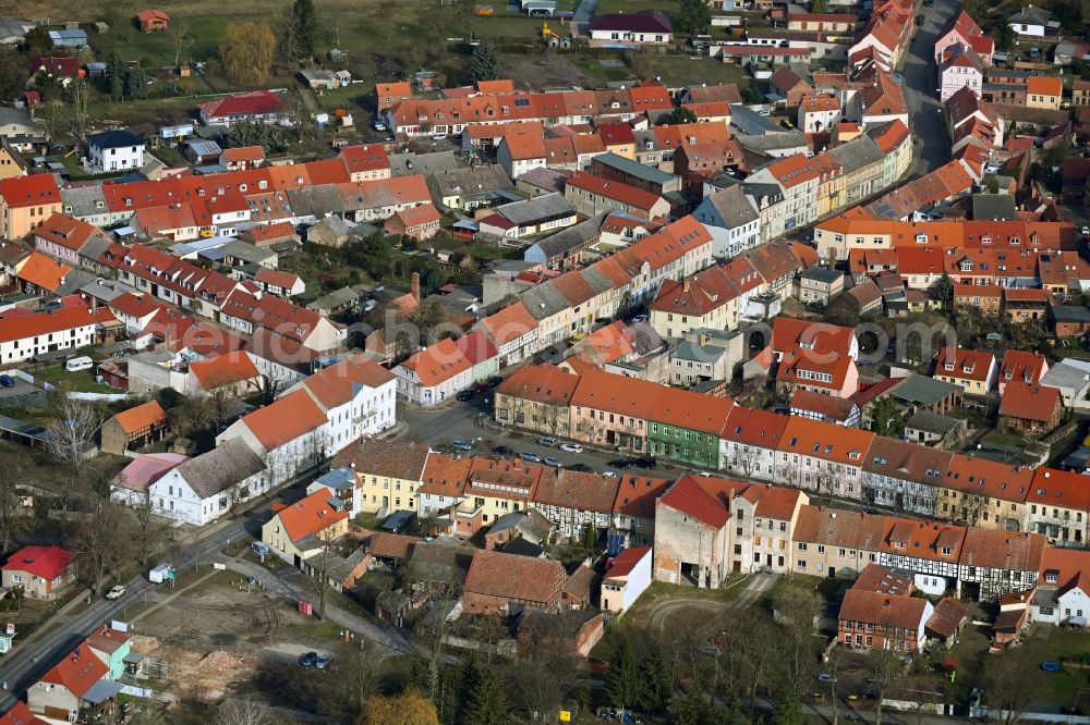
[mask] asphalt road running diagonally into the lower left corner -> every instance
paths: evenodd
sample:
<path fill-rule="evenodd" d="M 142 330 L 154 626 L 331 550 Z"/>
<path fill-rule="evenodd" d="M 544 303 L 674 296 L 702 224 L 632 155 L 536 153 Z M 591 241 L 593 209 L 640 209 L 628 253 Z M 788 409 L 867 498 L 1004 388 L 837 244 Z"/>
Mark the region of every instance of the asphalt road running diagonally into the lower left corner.
<path fill-rule="evenodd" d="M 201 537 L 186 546 L 186 553 L 181 561 L 174 562 L 174 569 L 181 573 L 192 568 L 201 561 L 207 561 L 229 541 L 239 539 L 247 531 L 259 533 L 261 525 L 267 514 L 268 506 L 262 506 L 242 518 L 203 532 Z M 152 583 L 143 573 L 124 583 L 125 595 L 121 599 L 112 602 L 99 599 L 85 611 L 64 620 L 56 630 L 27 647 L 19 647 L 16 640 L 15 649 L 3 658 L 2 665 L 0 665 L 0 679 L 8 685 L 8 690 L 0 697 L 0 711 L 7 711 L 11 708 L 15 703 L 15 695 L 22 693 L 90 632 L 102 624 L 108 624 L 111 619 L 123 618 L 120 615 L 125 607 L 141 601 L 144 592 L 166 586 Z"/>

